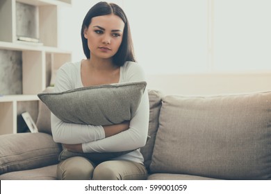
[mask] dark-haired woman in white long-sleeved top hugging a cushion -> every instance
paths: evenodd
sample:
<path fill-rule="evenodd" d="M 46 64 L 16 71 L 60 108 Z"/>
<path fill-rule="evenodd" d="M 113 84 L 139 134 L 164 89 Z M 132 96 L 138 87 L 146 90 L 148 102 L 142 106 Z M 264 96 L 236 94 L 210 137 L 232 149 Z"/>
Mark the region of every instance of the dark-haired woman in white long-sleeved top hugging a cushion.
<path fill-rule="evenodd" d="M 85 15 L 81 28 L 86 60 L 69 62 L 58 70 L 55 91 L 121 82 L 145 81 L 136 64 L 129 22 L 114 3 L 100 2 Z M 58 179 L 146 179 L 140 148 L 147 140 L 149 99 L 147 89 L 136 115 L 117 125 L 65 123 L 51 115 L 54 141 L 74 152 L 120 152 L 134 150 L 101 164 L 71 157 L 58 164 Z M 137 149 L 137 150 L 135 150 Z"/>

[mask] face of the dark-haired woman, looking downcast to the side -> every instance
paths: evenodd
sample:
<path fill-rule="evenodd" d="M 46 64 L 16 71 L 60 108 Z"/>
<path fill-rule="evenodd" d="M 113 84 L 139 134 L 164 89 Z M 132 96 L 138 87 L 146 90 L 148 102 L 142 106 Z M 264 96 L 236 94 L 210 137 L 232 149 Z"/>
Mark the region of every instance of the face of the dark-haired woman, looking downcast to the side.
<path fill-rule="evenodd" d="M 113 14 L 92 17 L 90 26 L 84 30 L 90 58 L 112 58 L 122 44 L 124 25 L 124 21 Z"/>

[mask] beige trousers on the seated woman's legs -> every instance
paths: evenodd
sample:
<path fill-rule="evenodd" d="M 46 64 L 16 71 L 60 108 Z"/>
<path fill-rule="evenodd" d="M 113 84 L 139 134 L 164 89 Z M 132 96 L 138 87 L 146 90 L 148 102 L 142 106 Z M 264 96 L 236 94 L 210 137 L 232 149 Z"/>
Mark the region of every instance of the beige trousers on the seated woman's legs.
<path fill-rule="evenodd" d="M 147 179 L 147 170 L 133 161 L 112 160 L 96 165 L 84 157 L 71 157 L 58 164 L 57 176 L 66 180 L 139 180 Z"/>

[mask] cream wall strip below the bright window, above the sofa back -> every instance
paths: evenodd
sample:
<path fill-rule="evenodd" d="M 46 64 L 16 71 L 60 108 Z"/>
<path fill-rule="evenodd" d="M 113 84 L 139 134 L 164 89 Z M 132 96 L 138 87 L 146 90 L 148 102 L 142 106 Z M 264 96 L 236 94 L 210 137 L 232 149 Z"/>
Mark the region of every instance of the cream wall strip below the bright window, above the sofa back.
<path fill-rule="evenodd" d="M 209 96 L 271 91 L 271 73 L 148 75 L 148 87 L 163 94 Z"/>

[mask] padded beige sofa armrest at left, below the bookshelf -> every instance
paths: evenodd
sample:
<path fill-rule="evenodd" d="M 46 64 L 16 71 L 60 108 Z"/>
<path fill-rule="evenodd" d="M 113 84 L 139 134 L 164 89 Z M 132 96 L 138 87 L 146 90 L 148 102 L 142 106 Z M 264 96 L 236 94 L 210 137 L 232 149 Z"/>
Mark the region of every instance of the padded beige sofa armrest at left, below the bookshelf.
<path fill-rule="evenodd" d="M 61 150 L 42 132 L 0 135 L 0 175 L 57 164 Z"/>

